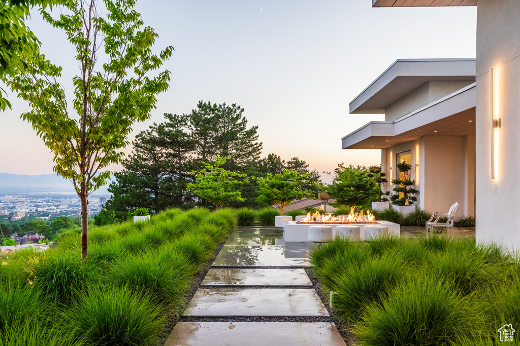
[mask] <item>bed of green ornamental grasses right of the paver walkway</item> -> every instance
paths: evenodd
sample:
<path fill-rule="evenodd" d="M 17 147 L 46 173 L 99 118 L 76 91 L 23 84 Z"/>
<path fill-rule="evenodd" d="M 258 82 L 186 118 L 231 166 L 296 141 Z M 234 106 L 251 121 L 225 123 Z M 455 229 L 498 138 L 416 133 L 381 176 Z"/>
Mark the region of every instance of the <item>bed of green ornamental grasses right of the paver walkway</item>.
<path fill-rule="evenodd" d="M 520 328 L 520 264 L 496 246 L 336 239 L 315 247 L 311 263 L 360 345 L 493 345 L 504 324 Z"/>

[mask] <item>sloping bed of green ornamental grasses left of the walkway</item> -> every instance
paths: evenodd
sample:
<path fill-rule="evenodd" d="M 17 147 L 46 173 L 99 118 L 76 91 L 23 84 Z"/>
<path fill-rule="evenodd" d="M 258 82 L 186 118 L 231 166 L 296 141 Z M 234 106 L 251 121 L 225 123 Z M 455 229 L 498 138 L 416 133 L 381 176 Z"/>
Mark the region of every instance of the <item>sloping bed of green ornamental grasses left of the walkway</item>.
<path fill-rule="evenodd" d="M 0 344 L 149 345 L 186 305 L 193 279 L 236 227 L 235 212 L 168 210 L 147 222 L 77 231 L 0 266 Z"/>

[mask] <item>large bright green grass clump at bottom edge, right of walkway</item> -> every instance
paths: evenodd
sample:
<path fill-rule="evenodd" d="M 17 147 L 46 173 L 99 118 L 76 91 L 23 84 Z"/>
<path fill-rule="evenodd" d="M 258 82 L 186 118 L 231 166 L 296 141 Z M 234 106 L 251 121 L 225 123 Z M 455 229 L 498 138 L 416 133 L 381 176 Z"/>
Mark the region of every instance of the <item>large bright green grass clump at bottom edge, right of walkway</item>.
<path fill-rule="evenodd" d="M 367 346 L 460 344 L 477 322 L 465 306 L 443 281 L 407 280 L 387 301 L 367 307 L 357 335 Z"/>

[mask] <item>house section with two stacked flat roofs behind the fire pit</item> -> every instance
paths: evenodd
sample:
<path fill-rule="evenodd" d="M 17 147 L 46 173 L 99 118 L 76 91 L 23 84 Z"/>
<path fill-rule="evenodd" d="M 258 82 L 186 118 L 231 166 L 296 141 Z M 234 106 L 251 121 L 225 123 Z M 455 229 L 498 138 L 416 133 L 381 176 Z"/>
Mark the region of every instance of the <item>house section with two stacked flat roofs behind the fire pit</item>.
<path fill-rule="evenodd" d="M 475 59 L 399 59 L 352 102 L 351 114 L 384 114 L 342 139 L 343 149 L 381 149 L 384 189 L 399 177 L 428 212 L 475 215 Z"/>

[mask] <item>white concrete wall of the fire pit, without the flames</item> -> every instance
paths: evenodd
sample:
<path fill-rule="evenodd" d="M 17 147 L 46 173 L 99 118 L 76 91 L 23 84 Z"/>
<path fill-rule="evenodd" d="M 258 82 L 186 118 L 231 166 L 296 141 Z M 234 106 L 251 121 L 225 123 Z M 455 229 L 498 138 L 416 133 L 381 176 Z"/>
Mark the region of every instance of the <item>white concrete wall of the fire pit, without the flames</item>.
<path fill-rule="evenodd" d="M 320 225 L 320 224 L 314 224 Z M 365 227 L 367 226 L 386 226 L 388 228 L 388 235 L 399 237 L 401 234 L 401 227 L 399 224 L 394 224 L 388 221 L 378 221 L 374 224 L 321 224 L 323 226 L 331 226 L 332 227 L 332 236 L 335 238 L 337 231 L 336 227 L 338 226 L 358 226 L 360 230 L 360 238 L 361 240 L 365 240 Z M 286 242 L 308 242 L 309 234 L 308 228 L 309 226 L 313 226 L 313 224 L 296 224 L 295 221 L 285 221 L 283 224 L 283 239 Z"/>

